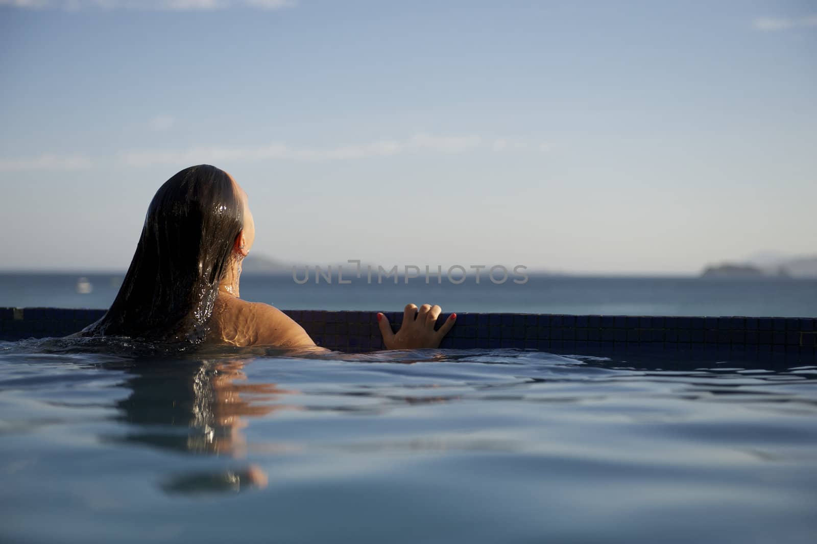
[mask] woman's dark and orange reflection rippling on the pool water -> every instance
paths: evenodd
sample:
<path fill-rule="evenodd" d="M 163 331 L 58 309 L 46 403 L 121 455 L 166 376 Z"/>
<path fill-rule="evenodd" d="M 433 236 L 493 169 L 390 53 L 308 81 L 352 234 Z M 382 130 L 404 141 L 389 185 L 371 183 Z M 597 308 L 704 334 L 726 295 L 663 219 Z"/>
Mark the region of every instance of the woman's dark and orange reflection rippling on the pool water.
<path fill-rule="evenodd" d="M 240 461 L 247 453 L 243 428 L 248 417 L 287 409 L 270 401 L 290 391 L 272 383 L 242 383 L 245 362 L 147 362 L 127 371 L 125 385 L 132 392 L 118 401 L 117 408 L 129 431 L 117 440 L 234 459 L 228 468 L 170 475 L 161 484 L 168 493 L 235 492 L 266 485 L 263 470 Z"/>

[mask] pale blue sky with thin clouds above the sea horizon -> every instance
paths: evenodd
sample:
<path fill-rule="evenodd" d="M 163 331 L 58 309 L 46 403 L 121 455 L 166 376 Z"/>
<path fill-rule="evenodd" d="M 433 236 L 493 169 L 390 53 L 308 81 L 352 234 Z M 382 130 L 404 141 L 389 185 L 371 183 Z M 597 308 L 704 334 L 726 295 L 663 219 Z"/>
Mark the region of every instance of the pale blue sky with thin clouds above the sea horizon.
<path fill-rule="evenodd" d="M 124 270 L 210 163 L 293 263 L 817 253 L 817 2 L 0 0 L 0 270 Z"/>

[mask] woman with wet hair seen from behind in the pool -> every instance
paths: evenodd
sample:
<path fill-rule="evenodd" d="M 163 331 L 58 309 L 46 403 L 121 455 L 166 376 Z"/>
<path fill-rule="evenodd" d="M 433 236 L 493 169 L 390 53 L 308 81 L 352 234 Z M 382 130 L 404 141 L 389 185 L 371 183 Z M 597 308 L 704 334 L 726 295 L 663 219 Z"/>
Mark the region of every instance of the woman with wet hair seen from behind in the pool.
<path fill-rule="evenodd" d="M 114 304 L 83 334 L 232 346 L 314 347 L 282 311 L 239 298 L 241 261 L 255 241 L 247 193 L 209 165 L 185 168 L 150 202 L 136 253 Z M 440 306 L 405 307 L 392 332 L 377 314 L 386 348 L 437 347 L 456 315 L 435 331 Z"/>

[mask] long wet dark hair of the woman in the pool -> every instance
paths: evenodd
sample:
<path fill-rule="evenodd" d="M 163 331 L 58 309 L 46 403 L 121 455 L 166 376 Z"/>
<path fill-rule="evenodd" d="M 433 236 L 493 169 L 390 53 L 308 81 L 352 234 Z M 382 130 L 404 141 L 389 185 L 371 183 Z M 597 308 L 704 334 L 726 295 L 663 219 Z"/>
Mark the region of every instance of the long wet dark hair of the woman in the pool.
<path fill-rule="evenodd" d="M 243 203 L 226 172 L 185 168 L 150 202 L 131 266 L 92 334 L 202 341 L 218 283 L 243 228 Z"/>

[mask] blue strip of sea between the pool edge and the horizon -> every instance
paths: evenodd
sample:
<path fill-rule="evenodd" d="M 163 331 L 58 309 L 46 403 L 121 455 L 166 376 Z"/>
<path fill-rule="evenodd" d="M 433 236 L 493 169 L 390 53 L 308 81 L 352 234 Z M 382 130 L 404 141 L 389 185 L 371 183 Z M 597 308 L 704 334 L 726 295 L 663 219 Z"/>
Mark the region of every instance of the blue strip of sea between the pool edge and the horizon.
<path fill-rule="evenodd" d="M 0 306 L 109 307 L 122 273 L 0 274 Z M 352 278 L 306 283 L 292 274 L 244 274 L 241 297 L 281 310 L 400 310 L 408 303 L 438 304 L 444 312 L 515 312 L 602 315 L 743 315 L 814 317 L 817 279 L 721 279 L 530 275 L 526 283 L 493 283 L 469 276 Z"/>

